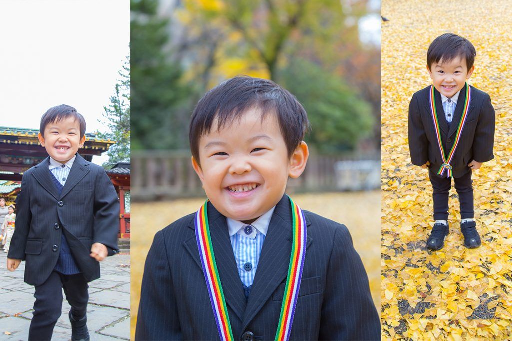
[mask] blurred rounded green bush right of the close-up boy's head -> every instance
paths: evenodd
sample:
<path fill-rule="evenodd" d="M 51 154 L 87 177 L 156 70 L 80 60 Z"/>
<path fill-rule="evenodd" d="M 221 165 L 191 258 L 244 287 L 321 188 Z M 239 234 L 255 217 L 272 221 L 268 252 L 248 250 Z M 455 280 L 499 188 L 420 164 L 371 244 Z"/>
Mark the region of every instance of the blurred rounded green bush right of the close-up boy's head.
<path fill-rule="evenodd" d="M 371 135 L 375 122 L 370 105 L 339 76 L 297 59 L 280 79 L 304 105 L 312 127 L 306 141 L 318 152 L 352 151 L 361 139 Z"/>

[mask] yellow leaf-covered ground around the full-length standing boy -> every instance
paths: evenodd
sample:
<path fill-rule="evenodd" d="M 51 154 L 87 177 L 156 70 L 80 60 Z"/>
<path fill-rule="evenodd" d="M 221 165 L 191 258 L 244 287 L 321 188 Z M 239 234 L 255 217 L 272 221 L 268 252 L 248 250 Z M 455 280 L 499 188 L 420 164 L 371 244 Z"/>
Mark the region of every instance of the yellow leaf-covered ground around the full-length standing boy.
<path fill-rule="evenodd" d="M 382 3 L 382 337 L 512 338 L 512 10 L 507 0 Z M 441 251 L 425 247 L 433 225 L 428 171 L 411 164 L 408 109 L 431 84 L 426 52 L 453 32 L 477 50 L 469 83 L 492 98 L 495 159 L 473 173 L 482 237 L 466 249 L 458 197 L 450 197 L 450 235 Z"/>

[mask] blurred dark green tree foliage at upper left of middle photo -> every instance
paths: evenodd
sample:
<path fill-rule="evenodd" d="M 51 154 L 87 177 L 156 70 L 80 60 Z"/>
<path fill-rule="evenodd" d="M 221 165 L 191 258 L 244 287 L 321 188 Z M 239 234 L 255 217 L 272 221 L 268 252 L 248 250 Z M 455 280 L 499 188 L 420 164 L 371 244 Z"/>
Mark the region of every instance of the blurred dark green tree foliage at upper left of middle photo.
<path fill-rule="evenodd" d="M 155 0 L 132 1 L 134 150 L 187 145 L 187 123 L 176 112 L 182 111 L 190 90 L 180 81 L 181 66 L 171 58 L 169 20 L 156 14 L 157 7 Z"/>

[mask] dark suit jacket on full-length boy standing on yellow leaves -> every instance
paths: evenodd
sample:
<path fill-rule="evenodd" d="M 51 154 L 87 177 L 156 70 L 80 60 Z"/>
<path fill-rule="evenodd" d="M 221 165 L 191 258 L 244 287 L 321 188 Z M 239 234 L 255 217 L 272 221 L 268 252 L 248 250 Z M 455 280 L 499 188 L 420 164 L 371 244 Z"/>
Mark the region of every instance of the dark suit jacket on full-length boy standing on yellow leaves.
<path fill-rule="evenodd" d="M 494 159 L 494 127 L 496 120 L 494 108 L 489 95 L 474 87 L 471 87 L 471 90 L 470 112 L 452 162 L 454 178 L 460 178 L 470 172 L 471 168 L 467 165 L 473 160 L 487 162 Z M 465 93 L 466 88 L 464 87 L 460 92 L 453 122 L 449 129 L 444 117 L 441 94 L 434 90 L 441 140 L 446 156 L 455 143 L 455 133 L 464 109 Z M 437 173 L 443 161 L 437 144 L 429 96 L 430 86 L 415 93 L 409 105 L 409 149 L 413 164 L 422 166 L 426 161 L 430 161 L 430 167 Z"/>

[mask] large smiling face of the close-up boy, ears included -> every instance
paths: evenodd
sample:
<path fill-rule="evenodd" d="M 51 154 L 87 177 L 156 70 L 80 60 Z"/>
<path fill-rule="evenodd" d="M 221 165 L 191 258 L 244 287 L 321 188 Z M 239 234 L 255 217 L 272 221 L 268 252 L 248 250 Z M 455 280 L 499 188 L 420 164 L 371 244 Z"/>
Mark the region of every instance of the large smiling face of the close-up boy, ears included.
<path fill-rule="evenodd" d="M 291 158 L 276 115 L 261 120 L 256 110 L 217 132 L 217 123 L 199 141 L 201 166 L 192 158 L 206 196 L 225 217 L 252 223 L 285 193 L 288 177 L 304 172 L 308 146 L 302 142 Z"/>

